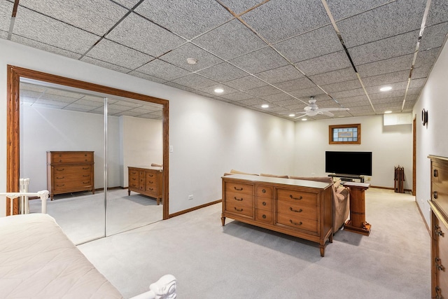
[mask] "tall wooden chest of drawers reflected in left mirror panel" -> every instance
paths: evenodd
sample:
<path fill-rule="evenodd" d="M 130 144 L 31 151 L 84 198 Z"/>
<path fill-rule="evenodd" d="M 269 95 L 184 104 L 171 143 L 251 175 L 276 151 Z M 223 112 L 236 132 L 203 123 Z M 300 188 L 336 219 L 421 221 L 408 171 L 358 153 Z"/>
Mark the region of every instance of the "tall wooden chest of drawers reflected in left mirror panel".
<path fill-rule="evenodd" d="M 47 188 L 53 195 L 94 188 L 94 158 L 92 151 L 48 151 Z"/>

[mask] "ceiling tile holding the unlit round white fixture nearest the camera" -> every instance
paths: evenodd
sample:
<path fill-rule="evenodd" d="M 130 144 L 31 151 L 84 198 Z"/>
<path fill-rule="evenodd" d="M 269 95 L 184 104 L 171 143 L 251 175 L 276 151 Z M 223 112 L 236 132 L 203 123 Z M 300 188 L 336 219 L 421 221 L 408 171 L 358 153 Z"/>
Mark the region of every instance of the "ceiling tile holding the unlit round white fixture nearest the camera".
<path fill-rule="evenodd" d="M 195 58 L 197 63 L 188 64 L 187 58 L 190 57 Z M 160 56 L 159 59 L 181 67 L 182 69 L 188 69 L 188 71 L 199 71 L 200 69 L 206 69 L 207 67 L 223 62 L 220 58 L 193 45 L 193 43 L 186 43 L 179 48 Z"/>

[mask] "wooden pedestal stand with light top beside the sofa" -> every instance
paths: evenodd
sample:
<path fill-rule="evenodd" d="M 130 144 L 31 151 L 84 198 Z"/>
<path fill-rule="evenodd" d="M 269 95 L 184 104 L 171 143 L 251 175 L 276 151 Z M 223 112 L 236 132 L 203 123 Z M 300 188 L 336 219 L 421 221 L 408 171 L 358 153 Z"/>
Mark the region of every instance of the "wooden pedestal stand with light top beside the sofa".
<path fill-rule="evenodd" d="M 370 235 L 372 225 L 365 221 L 365 190 L 370 183 L 344 183 L 350 193 L 350 219 L 346 221 L 344 230 L 357 232 L 362 235 Z"/>

